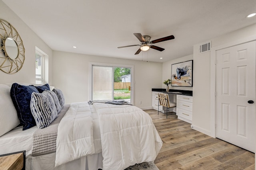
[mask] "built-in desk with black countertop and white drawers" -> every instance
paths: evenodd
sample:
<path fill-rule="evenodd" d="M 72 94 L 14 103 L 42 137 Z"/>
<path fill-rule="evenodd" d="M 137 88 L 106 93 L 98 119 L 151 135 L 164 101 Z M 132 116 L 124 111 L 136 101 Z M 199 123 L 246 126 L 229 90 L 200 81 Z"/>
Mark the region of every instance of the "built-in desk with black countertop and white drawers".
<path fill-rule="evenodd" d="M 192 123 L 192 91 L 170 89 L 169 92 L 166 92 L 166 89 L 152 88 L 152 107 L 156 110 L 158 110 L 158 93 L 167 93 L 170 102 L 176 103 L 176 108 L 172 111 L 176 112 L 178 119 Z M 159 110 L 163 111 L 164 108 L 159 106 Z"/>

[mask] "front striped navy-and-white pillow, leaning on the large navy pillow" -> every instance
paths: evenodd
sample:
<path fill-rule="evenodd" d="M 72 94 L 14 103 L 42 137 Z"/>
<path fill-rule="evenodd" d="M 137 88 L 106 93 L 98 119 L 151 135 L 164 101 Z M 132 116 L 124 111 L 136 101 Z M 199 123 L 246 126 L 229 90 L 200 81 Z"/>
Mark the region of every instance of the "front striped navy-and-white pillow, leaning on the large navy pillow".
<path fill-rule="evenodd" d="M 48 127 L 58 115 L 51 94 L 45 91 L 31 94 L 30 109 L 39 129 Z"/>

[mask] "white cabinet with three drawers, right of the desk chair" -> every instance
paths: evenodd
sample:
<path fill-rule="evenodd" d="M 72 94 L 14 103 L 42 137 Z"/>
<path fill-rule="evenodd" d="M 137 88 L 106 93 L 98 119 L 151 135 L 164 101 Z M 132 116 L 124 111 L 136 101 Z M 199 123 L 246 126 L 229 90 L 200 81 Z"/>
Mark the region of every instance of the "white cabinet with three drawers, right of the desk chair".
<path fill-rule="evenodd" d="M 192 104 L 192 96 L 177 95 L 176 115 L 178 119 L 192 123 Z"/>

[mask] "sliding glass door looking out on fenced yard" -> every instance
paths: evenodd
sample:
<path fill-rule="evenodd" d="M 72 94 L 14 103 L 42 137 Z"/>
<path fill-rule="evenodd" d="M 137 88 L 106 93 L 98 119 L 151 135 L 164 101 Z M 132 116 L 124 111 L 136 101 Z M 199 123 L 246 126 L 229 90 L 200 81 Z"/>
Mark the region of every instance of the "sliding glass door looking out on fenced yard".
<path fill-rule="evenodd" d="M 132 102 L 132 68 L 92 65 L 92 100 Z"/>

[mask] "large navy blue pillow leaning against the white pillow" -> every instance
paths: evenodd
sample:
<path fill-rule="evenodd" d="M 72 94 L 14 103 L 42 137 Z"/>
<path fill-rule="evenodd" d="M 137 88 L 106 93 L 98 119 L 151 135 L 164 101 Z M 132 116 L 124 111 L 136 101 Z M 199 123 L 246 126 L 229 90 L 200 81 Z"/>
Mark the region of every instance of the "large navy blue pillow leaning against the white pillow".
<path fill-rule="evenodd" d="M 17 110 L 20 124 L 23 125 L 23 130 L 36 125 L 36 121 L 30 110 L 32 92 L 39 93 L 35 86 L 23 86 L 18 83 L 12 84 L 10 91 L 12 102 Z"/>

